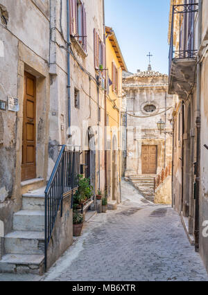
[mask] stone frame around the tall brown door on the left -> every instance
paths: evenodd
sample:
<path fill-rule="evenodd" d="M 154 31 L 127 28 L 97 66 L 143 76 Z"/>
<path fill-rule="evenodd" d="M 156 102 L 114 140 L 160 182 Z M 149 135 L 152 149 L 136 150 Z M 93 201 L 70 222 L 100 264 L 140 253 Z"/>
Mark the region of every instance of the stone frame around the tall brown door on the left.
<path fill-rule="evenodd" d="M 19 98 L 19 111 L 17 113 L 17 145 L 15 186 L 13 195 L 21 200 L 21 157 L 22 157 L 22 129 L 23 129 L 23 102 L 24 102 L 24 72 L 34 75 L 37 82 L 37 127 L 36 127 L 36 161 L 37 178 L 46 181 L 48 168 L 49 143 L 49 105 L 50 105 L 50 77 L 49 66 L 45 60 L 37 56 L 24 44 L 19 42 L 19 60 L 17 69 L 17 98 Z"/>

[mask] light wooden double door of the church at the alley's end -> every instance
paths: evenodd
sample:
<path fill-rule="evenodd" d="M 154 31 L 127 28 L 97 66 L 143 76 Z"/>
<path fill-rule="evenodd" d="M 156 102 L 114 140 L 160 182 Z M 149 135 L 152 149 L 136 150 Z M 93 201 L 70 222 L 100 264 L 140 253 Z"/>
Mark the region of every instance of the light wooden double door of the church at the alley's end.
<path fill-rule="evenodd" d="M 157 174 L 157 145 L 142 145 L 142 174 Z"/>

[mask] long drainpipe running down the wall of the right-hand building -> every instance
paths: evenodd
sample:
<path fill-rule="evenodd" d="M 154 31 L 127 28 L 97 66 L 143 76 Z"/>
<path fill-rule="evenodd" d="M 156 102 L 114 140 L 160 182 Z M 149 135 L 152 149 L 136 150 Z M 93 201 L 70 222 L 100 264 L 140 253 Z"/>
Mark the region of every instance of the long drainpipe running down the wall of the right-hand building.
<path fill-rule="evenodd" d="M 201 42 L 202 42 L 202 0 L 199 0 L 198 2 L 198 48 L 200 48 Z M 198 60 L 200 57 L 198 57 Z M 197 105 L 197 114 L 196 114 L 196 208 L 195 208 L 195 230 L 194 230 L 194 236 L 195 236 L 195 249 L 198 252 L 199 251 L 199 230 L 200 230 L 200 216 L 199 216 L 199 210 L 200 210 L 200 95 L 201 95 L 201 89 L 200 89 L 200 82 L 201 82 L 201 64 L 198 63 L 197 66 L 197 96 L 196 96 L 196 105 Z"/>

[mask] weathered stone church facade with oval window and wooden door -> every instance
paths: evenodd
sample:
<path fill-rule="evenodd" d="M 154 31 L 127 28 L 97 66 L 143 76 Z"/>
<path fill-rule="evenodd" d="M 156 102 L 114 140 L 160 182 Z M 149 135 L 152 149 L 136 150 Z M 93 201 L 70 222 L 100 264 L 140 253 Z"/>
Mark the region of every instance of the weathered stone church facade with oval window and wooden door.
<path fill-rule="evenodd" d="M 171 132 L 173 96 L 168 95 L 168 76 L 152 71 L 125 74 L 127 154 L 125 177 L 146 196 L 154 196 L 154 177 L 171 162 L 171 134 L 160 133 L 160 119 Z M 169 187 L 171 189 L 171 186 Z M 170 194 L 166 202 L 170 203 Z"/>

